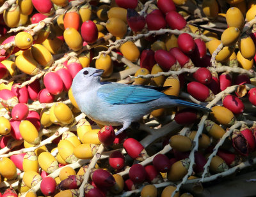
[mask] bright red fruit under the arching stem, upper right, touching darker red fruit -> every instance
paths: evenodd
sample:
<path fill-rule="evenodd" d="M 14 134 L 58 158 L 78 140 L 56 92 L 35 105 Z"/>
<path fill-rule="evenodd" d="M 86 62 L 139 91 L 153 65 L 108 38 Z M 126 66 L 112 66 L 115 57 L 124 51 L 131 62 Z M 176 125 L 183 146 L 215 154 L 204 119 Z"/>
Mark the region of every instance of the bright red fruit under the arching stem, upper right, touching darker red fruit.
<path fill-rule="evenodd" d="M 195 50 L 195 41 L 190 34 L 182 33 L 178 37 L 179 48 L 185 54 L 192 54 Z"/>

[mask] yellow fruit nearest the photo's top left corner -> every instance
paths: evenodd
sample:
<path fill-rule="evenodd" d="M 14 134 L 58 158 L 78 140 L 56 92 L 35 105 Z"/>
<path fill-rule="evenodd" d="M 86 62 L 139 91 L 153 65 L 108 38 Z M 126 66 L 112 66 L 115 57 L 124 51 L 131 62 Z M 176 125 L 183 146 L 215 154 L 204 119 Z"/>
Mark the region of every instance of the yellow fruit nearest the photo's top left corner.
<path fill-rule="evenodd" d="M 12 4 L 4 10 L 4 23 L 8 27 L 17 27 L 20 21 L 20 8 L 17 4 Z"/>

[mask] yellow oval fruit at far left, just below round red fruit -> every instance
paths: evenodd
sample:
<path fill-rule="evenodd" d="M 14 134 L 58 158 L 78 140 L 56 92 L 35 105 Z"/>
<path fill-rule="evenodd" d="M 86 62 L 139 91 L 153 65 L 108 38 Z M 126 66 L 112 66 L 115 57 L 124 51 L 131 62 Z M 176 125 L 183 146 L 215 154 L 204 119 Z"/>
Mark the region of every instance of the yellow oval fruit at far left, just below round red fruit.
<path fill-rule="evenodd" d="M 33 145 L 38 145 L 40 143 L 40 137 L 35 126 L 29 122 L 29 120 L 22 120 L 20 122 L 20 135 L 22 138 Z"/>

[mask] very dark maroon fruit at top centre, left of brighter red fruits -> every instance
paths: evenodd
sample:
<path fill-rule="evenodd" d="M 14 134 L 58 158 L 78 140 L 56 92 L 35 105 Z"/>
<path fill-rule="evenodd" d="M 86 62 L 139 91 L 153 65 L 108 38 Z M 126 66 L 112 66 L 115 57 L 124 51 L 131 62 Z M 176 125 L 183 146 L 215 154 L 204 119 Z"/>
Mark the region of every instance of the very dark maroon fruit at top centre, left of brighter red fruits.
<path fill-rule="evenodd" d="M 141 31 L 146 24 L 146 20 L 142 15 L 139 15 L 136 10 L 127 9 L 127 24 L 132 31 Z"/>

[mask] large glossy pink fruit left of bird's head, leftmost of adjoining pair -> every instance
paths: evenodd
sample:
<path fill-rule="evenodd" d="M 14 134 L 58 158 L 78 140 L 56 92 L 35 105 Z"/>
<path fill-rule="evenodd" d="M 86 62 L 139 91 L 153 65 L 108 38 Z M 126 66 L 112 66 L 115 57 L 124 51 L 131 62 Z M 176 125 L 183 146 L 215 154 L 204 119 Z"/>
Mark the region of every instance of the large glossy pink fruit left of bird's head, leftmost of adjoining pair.
<path fill-rule="evenodd" d="M 60 94 L 63 91 L 64 86 L 60 76 L 55 72 L 50 72 L 44 75 L 44 85 L 53 95 Z"/>

